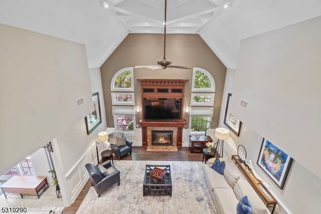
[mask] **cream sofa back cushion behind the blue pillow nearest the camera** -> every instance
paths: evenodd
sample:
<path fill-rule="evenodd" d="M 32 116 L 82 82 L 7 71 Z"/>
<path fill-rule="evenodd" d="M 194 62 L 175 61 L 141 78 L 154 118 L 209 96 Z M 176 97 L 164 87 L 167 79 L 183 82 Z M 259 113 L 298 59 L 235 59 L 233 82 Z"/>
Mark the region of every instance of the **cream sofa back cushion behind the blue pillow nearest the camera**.
<path fill-rule="evenodd" d="M 247 195 L 251 203 L 252 213 L 270 213 L 264 202 L 245 178 L 241 177 L 237 180 L 234 186 L 234 193 L 239 200 Z"/>

